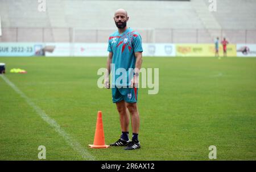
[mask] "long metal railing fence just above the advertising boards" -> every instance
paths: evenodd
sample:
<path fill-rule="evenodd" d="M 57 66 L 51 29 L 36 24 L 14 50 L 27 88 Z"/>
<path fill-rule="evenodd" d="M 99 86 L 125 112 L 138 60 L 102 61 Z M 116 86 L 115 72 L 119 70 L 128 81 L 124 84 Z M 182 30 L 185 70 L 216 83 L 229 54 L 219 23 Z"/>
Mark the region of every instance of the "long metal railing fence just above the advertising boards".
<path fill-rule="evenodd" d="M 204 30 L 173 28 L 138 28 L 143 43 L 213 43 L 224 37 L 233 44 L 256 44 L 256 30 Z M 2 28 L 0 42 L 70 42 L 106 43 L 116 28 Z"/>

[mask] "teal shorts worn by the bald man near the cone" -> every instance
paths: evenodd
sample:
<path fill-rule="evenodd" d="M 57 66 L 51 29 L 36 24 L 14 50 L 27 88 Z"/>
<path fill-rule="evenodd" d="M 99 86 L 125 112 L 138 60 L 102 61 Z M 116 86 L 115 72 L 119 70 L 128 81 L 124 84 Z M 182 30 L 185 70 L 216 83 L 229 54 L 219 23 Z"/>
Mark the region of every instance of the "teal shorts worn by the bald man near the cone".
<path fill-rule="evenodd" d="M 113 103 L 125 100 L 127 103 L 137 103 L 138 88 L 112 88 Z"/>

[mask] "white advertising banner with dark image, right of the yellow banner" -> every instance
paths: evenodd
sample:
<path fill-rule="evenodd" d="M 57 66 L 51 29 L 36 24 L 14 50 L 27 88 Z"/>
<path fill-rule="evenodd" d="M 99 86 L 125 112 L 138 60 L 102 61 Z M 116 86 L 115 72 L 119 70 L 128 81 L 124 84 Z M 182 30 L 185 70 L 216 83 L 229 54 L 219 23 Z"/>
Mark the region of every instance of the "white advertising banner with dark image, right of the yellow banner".
<path fill-rule="evenodd" d="M 256 44 L 237 44 L 237 57 L 256 57 Z"/>

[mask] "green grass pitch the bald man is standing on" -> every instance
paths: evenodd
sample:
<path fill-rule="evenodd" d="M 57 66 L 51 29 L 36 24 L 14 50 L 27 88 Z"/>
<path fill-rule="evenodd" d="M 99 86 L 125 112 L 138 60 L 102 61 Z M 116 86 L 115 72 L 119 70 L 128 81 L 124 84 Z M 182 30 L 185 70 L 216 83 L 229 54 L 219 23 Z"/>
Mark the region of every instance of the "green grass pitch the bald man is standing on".
<path fill-rule="evenodd" d="M 142 148 L 91 149 L 97 111 L 105 142 L 121 134 L 111 90 L 97 87 L 105 58 L 1 57 L 5 76 L 95 160 L 256 160 L 256 58 L 143 57 L 159 68 L 159 93 L 139 89 Z M 11 68 L 27 74 L 10 73 Z M 0 77 L 0 160 L 84 160 Z M 131 127 L 130 127 L 131 133 Z"/>

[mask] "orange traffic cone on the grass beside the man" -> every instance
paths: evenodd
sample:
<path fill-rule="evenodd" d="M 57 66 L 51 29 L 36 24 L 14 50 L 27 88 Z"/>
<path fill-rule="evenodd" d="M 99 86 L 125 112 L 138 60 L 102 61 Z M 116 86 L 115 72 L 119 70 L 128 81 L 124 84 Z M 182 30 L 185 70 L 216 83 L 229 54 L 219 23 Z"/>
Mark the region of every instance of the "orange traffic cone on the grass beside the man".
<path fill-rule="evenodd" d="M 102 123 L 102 112 L 98 111 L 98 118 L 96 123 L 96 130 L 94 135 L 93 145 L 89 145 L 90 148 L 108 148 L 108 145 L 105 145 L 104 129 Z"/>

